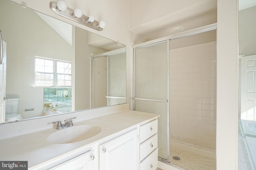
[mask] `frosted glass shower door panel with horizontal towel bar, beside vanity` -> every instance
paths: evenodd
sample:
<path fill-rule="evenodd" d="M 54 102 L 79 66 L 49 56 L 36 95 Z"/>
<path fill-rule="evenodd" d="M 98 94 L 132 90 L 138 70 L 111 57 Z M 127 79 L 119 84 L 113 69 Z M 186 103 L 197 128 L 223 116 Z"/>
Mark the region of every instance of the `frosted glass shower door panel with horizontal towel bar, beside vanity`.
<path fill-rule="evenodd" d="M 133 109 L 160 115 L 158 157 L 169 162 L 169 42 L 134 48 Z"/>

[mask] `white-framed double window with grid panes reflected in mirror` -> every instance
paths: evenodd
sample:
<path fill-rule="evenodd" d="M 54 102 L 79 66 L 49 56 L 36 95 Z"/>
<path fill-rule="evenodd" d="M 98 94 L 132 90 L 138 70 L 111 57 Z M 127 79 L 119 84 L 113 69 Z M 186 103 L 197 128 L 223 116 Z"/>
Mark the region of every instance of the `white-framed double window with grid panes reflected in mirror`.
<path fill-rule="evenodd" d="M 35 57 L 35 86 L 71 86 L 71 63 Z"/>

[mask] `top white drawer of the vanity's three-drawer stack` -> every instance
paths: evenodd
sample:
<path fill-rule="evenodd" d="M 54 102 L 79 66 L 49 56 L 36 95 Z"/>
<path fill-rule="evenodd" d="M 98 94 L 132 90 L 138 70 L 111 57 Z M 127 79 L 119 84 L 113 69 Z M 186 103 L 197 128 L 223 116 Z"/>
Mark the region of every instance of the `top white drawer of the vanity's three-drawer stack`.
<path fill-rule="evenodd" d="M 140 127 L 140 143 L 157 133 L 157 119 Z"/>

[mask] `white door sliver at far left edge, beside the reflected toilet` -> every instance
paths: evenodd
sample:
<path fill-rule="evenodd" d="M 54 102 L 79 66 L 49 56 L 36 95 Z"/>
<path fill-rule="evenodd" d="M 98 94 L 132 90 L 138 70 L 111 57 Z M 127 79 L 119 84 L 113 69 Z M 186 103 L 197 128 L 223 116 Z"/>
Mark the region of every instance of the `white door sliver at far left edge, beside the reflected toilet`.
<path fill-rule="evenodd" d="M 0 64 L 0 123 L 5 122 L 5 89 L 6 89 L 6 42 L 3 41 L 3 60 Z"/>

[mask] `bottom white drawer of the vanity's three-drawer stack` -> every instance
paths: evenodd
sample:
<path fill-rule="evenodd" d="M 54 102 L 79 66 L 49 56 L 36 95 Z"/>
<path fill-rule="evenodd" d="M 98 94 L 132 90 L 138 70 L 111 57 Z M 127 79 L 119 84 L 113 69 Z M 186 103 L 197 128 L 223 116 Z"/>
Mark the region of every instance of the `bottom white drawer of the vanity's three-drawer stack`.
<path fill-rule="evenodd" d="M 146 159 L 140 162 L 140 170 L 156 170 L 158 161 L 158 148 Z"/>

